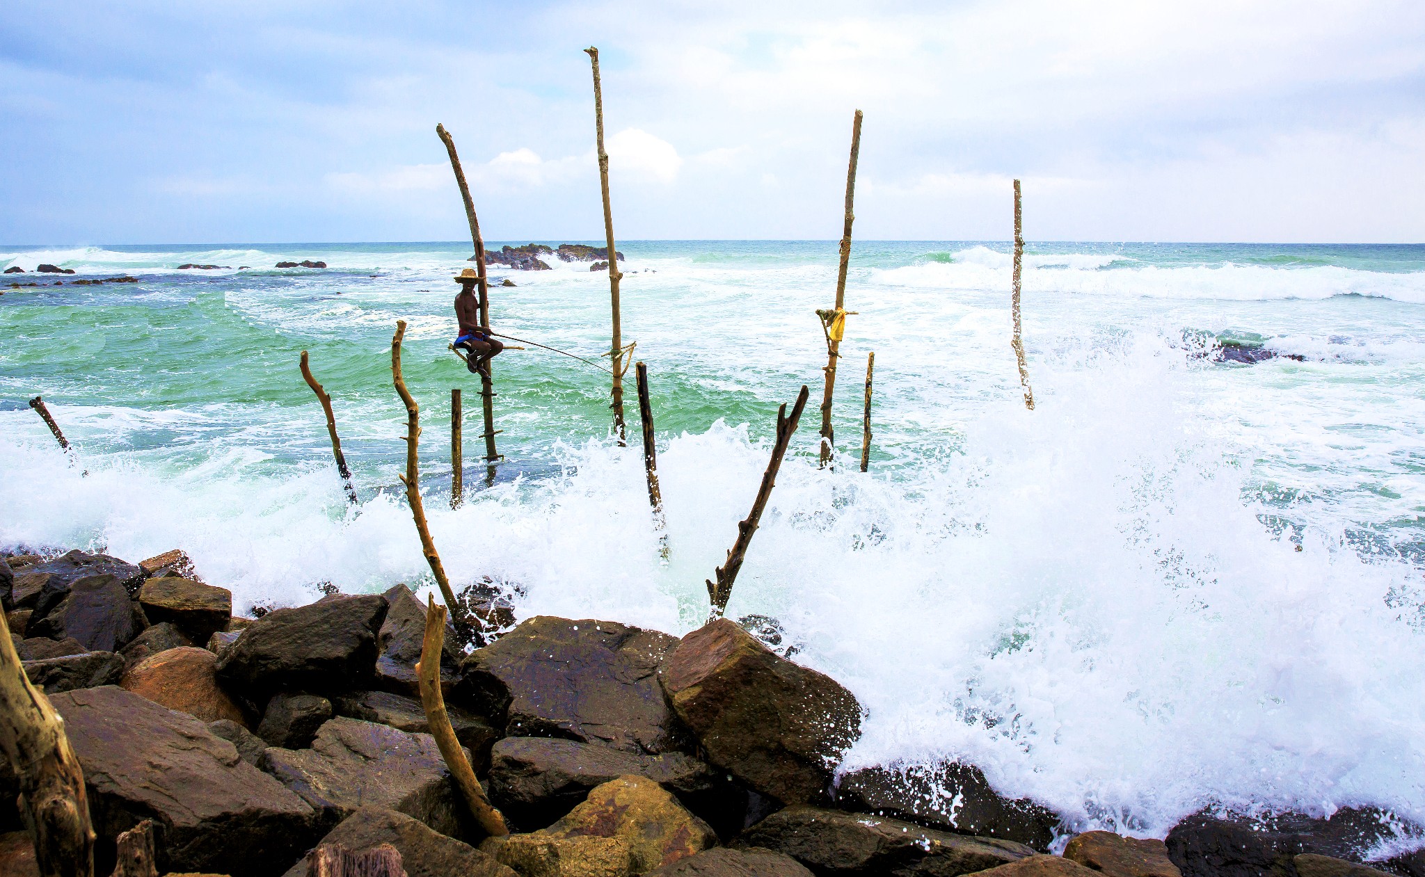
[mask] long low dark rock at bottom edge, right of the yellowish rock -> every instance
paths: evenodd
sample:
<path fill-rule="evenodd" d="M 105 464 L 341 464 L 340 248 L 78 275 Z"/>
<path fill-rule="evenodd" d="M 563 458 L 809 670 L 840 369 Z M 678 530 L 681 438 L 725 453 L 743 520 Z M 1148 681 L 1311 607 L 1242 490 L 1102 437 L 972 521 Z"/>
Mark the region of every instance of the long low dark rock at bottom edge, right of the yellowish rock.
<path fill-rule="evenodd" d="M 898 819 L 794 804 L 742 833 L 748 844 L 791 856 L 818 874 L 969 874 L 1035 851 L 993 837 L 922 829 Z"/>

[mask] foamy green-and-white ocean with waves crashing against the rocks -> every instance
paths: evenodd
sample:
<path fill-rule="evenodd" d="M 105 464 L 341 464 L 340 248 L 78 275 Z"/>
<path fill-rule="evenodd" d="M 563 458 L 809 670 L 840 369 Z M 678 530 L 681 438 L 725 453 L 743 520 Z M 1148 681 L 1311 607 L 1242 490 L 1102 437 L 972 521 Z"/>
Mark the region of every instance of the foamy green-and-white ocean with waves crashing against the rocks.
<path fill-rule="evenodd" d="M 244 611 L 323 584 L 430 588 L 396 478 L 405 319 L 426 513 L 456 587 L 487 577 L 520 616 L 685 634 L 805 383 L 728 614 L 777 618 L 797 661 L 861 699 L 848 767 L 966 757 L 1079 830 L 1163 836 L 1210 804 L 1425 821 L 1425 246 L 1030 243 L 1029 411 L 1007 243 L 858 242 L 825 470 L 814 310 L 834 303 L 836 242 L 620 249 L 667 560 L 631 373 L 618 447 L 607 374 L 533 347 L 496 359 L 504 460 L 486 478 L 479 380 L 446 349 L 467 243 L 0 246 L 0 268 L 76 272 L 0 285 L 0 547 L 182 548 Z M 328 268 L 274 268 L 302 259 Z M 516 283 L 492 286 L 494 330 L 597 362 L 607 275 L 546 261 L 492 268 Z M 125 273 L 138 282 L 74 285 Z M 1277 356 L 1218 362 L 1223 345 Z"/>

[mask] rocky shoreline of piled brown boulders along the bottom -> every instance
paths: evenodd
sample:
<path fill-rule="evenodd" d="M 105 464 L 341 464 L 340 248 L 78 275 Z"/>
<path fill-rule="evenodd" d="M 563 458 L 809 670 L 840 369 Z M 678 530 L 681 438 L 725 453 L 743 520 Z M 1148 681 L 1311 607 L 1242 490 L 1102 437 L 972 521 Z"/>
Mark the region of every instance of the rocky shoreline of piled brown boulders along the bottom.
<path fill-rule="evenodd" d="M 426 609 L 405 585 L 241 618 L 181 551 L 10 552 L 0 599 L 83 766 L 103 874 L 147 819 L 160 873 L 231 877 L 304 877 L 319 843 L 390 844 L 409 877 L 1425 876 L 1421 851 L 1362 864 L 1425 837 L 1379 810 L 1064 844 L 1056 813 L 973 765 L 838 774 L 862 708 L 768 648 L 767 619 L 675 638 L 536 616 L 446 645 L 452 728 L 513 831 L 486 837 L 428 733 Z M 0 787 L 0 876 L 34 874 L 11 765 Z"/>

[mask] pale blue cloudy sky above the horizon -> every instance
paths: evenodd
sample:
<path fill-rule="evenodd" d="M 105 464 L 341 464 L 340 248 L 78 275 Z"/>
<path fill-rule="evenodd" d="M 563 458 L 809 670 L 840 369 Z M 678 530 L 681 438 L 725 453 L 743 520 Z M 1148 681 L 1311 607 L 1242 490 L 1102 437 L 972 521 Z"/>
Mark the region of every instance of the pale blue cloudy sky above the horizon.
<path fill-rule="evenodd" d="M 0 242 L 1425 241 L 1419 0 L 6 0 Z"/>

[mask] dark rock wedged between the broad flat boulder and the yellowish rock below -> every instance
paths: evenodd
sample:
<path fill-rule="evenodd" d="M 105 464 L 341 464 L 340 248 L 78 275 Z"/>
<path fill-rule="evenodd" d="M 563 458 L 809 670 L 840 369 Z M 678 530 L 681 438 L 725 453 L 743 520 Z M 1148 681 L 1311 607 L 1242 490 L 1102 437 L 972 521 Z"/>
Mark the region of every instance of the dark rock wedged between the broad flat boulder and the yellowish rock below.
<path fill-rule="evenodd" d="M 490 752 L 490 799 L 524 830 L 549 826 L 591 789 L 620 776 L 658 783 L 728 834 L 742 827 L 745 793 L 740 794 L 725 774 L 681 752 L 650 756 L 549 737 L 504 737 Z M 720 826 L 720 820 L 735 826 Z"/>

